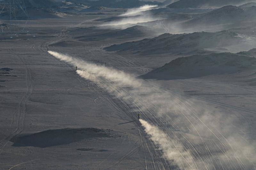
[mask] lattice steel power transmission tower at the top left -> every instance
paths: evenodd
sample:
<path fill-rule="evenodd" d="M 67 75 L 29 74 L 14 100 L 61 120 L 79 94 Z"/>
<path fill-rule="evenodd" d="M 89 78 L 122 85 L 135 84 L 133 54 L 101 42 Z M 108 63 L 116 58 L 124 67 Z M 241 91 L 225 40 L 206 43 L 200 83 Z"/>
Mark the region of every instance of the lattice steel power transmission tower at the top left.
<path fill-rule="evenodd" d="M 0 17 L 9 22 L 5 24 L 0 21 L 0 32 L 17 34 L 27 31 L 28 12 L 24 0 L 0 1 L 0 10 Z"/>

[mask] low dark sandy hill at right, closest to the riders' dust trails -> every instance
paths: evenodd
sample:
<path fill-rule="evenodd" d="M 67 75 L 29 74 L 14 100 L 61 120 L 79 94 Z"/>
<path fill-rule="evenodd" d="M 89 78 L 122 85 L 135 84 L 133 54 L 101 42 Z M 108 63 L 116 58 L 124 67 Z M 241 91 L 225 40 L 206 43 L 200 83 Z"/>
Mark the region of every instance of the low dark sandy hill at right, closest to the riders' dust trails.
<path fill-rule="evenodd" d="M 172 60 L 164 66 L 154 69 L 143 78 L 182 79 L 203 77 L 211 74 L 236 73 L 255 69 L 256 48 L 248 52 L 192 55 Z"/>

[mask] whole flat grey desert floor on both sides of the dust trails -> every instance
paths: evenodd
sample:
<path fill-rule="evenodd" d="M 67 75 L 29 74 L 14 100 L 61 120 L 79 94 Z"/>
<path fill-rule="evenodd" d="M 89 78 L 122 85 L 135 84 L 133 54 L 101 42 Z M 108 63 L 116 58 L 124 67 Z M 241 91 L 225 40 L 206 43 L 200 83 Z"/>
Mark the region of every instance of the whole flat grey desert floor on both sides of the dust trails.
<path fill-rule="evenodd" d="M 74 66 L 48 54 L 47 48 L 123 70 L 134 77 L 168 61 L 168 57 L 164 57 L 153 63 L 152 58 L 147 61 L 146 57 L 104 51 L 105 46 L 115 43 L 113 41 L 54 46 L 79 36 L 74 28 L 92 26 L 92 18 L 94 16 L 35 20 L 30 22 L 29 34 L 12 39 L 6 36 L 7 40 L 0 41 L 0 68 L 13 69 L 8 76 L 0 76 L 0 169 L 178 169 L 175 162 L 164 159 L 163 150 L 149 140 L 136 113 L 129 110 L 128 102 L 120 101 L 94 82 L 81 78 Z M 151 93 L 157 89 L 159 94 L 175 97 L 179 104 L 193 107 L 193 113 L 207 108 L 212 117 L 215 111 L 223 113 L 225 116 L 221 120 L 236 117 L 228 128 L 237 131 L 248 143 L 255 140 L 255 87 L 228 80 L 223 82 L 214 76 L 145 81 L 157 86 Z M 166 98 L 164 102 L 167 101 Z M 170 128 L 175 129 L 170 125 L 174 117 L 154 116 L 148 112 L 144 118 L 167 132 Z M 217 118 L 214 121 L 225 124 Z M 185 133 L 189 127 L 182 128 L 184 136 L 193 136 Z M 218 142 L 210 140 L 210 135 L 200 136 L 203 132 L 198 134 L 191 138 L 201 138 L 206 145 Z M 203 147 L 200 144 L 195 142 L 193 146 L 200 150 Z M 209 150 L 218 152 L 218 149 Z M 204 149 L 200 151 L 204 156 L 205 152 Z M 201 154 L 198 158 L 204 158 Z M 248 160 L 239 160 L 240 169 L 253 168 L 243 163 Z M 239 169 L 236 165 L 227 167 Z"/>

